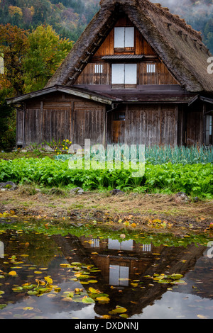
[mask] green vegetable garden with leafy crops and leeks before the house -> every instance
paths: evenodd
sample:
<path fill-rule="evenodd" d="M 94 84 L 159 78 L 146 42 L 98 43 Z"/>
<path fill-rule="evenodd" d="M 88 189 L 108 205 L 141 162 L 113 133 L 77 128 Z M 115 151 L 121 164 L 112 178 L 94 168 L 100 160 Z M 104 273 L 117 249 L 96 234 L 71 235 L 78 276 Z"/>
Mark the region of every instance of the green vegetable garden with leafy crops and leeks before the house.
<path fill-rule="evenodd" d="M 118 188 L 138 193 L 176 193 L 200 198 L 213 197 L 211 149 L 152 147 L 146 149 L 145 173 L 133 177 L 132 169 L 69 169 L 70 154 L 54 158 L 2 160 L 0 181 L 57 186 L 84 190 Z"/>

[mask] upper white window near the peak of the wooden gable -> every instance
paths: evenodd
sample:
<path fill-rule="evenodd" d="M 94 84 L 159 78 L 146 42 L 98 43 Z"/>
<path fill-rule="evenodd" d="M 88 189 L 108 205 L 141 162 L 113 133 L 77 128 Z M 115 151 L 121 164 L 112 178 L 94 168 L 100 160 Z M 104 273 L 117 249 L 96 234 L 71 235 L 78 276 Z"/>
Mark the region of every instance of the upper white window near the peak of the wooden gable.
<path fill-rule="evenodd" d="M 134 47 L 134 27 L 114 28 L 114 47 Z"/>

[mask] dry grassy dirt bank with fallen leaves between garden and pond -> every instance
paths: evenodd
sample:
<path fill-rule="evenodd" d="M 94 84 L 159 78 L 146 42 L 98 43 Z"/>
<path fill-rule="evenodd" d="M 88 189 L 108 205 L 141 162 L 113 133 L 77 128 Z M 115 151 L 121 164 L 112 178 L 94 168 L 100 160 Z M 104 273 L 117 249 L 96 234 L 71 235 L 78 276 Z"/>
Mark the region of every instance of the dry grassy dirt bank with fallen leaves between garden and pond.
<path fill-rule="evenodd" d="M 213 201 L 175 203 L 175 196 L 164 194 L 84 192 L 42 193 L 18 188 L 0 192 L 0 213 L 18 217 L 62 218 L 97 222 L 124 223 L 137 227 L 199 228 L 213 222 Z"/>

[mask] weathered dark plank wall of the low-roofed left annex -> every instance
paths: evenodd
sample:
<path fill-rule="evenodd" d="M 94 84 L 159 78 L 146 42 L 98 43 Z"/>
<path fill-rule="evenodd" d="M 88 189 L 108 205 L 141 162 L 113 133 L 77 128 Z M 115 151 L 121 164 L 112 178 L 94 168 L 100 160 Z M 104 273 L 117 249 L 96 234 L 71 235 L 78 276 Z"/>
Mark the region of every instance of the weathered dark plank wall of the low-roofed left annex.
<path fill-rule="evenodd" d="M 21 115 L 18 113 L 18 120 Z M 19 121 L 23 124 L 23 118 Z M 19 125 L 18 140 L 24 145 L 41 144 L 53 139 L 70 140 L 84 146 L 84 139 L 92 144 L 104 144 L 105 106 L 68 94 L 50 94 L 26 103 L 24 133 Z"/>

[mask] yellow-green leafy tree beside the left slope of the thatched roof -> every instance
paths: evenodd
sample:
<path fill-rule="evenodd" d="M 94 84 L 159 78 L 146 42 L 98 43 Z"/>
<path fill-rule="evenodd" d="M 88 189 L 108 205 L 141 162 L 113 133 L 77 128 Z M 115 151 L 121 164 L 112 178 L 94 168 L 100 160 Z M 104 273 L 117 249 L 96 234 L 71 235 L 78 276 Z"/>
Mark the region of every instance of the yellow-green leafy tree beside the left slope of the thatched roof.
<path fill-rule="evenodd" d="M 73 45 L 67 38 L 60 39 L 52 26 L 38 26 L 28 41 L 23 64 L 26 92 L 43 89 Z"/>

